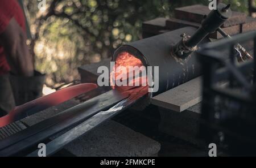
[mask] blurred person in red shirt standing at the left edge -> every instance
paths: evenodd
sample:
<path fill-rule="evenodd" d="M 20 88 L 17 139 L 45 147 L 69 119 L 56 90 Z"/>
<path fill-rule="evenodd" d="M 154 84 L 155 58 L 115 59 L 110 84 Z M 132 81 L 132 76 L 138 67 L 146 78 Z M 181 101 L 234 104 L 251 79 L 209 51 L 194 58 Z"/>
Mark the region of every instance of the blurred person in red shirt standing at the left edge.
<path fill-rule="evenodd" d="M 16 0 L 0 2 L 0 117 L 15 107 L 10 74 L 34 76 L 34 63 L 26 44 L 26 19 Z M 21 83 L 17 83 L 17 85 Z"/>

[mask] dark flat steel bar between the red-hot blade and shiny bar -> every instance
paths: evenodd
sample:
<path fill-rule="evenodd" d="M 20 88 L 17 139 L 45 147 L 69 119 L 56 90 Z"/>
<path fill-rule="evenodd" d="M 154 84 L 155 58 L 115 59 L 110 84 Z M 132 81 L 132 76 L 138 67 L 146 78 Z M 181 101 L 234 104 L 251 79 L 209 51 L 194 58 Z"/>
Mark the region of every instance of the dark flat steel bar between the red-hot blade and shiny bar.
<path fill-rule="evenodd" d="M 71 117 L 68 119 L 63 120 L 60 115 L 59 120 L 54 121 L 52 119 L 53 122 L 56 122 L 56 124 L 53 124 L 52 126 L 47 127 L 45 121 L 43 121 L 43 123 L 40 122 L 38 124 L 35 124 L 34 126 L 30 127 L 26 139 L 23 139 L 23 135 L 24 133 L 26 133 L 26 130 L 23 130 L 19 133 L 18 137 L 16 137 L 12 141 L 12 145 L 8 144 L 8 142 L 10 141 L 7 138 L 5 140 L 5 144 L 0 145 L 2 149 L 0 151 L 0 156 L 14 156 L 22 150 L 27 149 L 28 147 L 31 147 L 36 143 L 43 141 L 60 131 L 65 130 L 66 128 L 76 126 L 76 124 L 82 122 L 85 119 L 88 119 L 89 117 L 92 117 L 92 115 L 95 115 L 102 110 L 108 109 L 109 107 L 117 104 L 119 101 L 122 101 L 126 97 L 128 97 L 128 94 L 121 94 L 118 91 L 112 90 L 107 93 L 101 94 L 100 96 L 94 97 L 89 101 L 86 101 L 85 104 L 97 101 L 96 104 L 88 107 L 87 109 L 82 109 L 79 107 L 82 105 L 77 105 L 71 109 L 65 110 L 63 113 L 72 114 Z M 40 130 L 40 128 L 43 127 L 47 128 Z"/>

